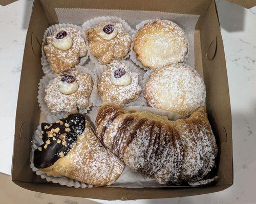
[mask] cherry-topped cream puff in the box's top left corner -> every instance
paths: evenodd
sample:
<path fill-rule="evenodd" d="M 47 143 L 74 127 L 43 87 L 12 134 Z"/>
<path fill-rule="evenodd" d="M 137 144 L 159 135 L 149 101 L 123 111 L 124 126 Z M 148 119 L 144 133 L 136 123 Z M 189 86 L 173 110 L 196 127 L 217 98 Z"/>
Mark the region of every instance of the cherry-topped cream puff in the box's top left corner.
<path fill-rule="evenodd" d="M 79 57 L 87 54 L 87 46 L 80 31 L 67 27 L 47 37 L 44 51 L 51 69 L 56 73 L 64 73 L 74 69 Z"/>

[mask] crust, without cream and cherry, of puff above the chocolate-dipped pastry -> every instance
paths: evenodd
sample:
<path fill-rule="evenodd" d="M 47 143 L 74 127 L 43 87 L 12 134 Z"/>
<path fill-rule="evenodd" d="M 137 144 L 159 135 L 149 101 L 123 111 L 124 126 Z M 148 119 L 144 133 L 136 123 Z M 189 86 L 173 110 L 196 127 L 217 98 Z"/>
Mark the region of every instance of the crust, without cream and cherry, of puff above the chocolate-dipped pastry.
<path fill-rule="evenodd" d="M 78 83 L 78 89 L 71 94 L 63 94 L 59 91 L 58 83 L 61 76 L 53 79 L 46 87 L 45 102 L 53 113 L 61 111 L 73 112 L 76 108 L 85 109 L 89 106 L 89 96 L 93 88 L 92 76 L 80 70 L 69 73 Z"/>

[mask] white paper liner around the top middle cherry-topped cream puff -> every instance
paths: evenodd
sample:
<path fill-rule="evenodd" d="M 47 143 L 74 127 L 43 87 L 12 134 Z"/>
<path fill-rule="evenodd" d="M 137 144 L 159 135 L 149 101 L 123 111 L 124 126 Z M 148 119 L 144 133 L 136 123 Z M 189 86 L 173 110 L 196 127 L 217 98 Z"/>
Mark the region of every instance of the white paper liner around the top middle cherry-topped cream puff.
<path fill-rule="evenodd" d="M 123 19 L 121 18 L 118 18 L 116 16 L 99 16 L 99 17 L 95 17 L 93 19 L 90 19 L 90 20 L 87 20 L 86 22 L 84 22 L 82 24 L 82 35 L 83 35 L 83 38 L 84 39 L 87 39 L 88 41 L 88 38 L 87 38 L 87 35 L 86 35 L 86 31 L 90 28 L 94 28 L 96 27 L 96 25 L 98 25 L 99 23 L 101 22 L 117 22 L 117 23 L 121 23 L 123 25 L 123 29 L 126 33 L 128 33 L 132 39 L 134 38 L 135 36 L 135 31 L 130 27 L 130 25 L 125 22 Z M 132 47 L 132 46 L 131 46 Z M 89 57 L 91 59 L 91 61 L 93 63 L 95 63 L 96 65 L 101 65 L 99 63 L 99 60 L 98 58 L 96 58 L 95 56 L 93 56 L 91 53 L 90 53 L 90 48 L 89 48 Z M 126 59 L 126 58 L 129 58 L 131 55 L 131 48 L 130 48 L 130 52 L 122 59 Z"/>

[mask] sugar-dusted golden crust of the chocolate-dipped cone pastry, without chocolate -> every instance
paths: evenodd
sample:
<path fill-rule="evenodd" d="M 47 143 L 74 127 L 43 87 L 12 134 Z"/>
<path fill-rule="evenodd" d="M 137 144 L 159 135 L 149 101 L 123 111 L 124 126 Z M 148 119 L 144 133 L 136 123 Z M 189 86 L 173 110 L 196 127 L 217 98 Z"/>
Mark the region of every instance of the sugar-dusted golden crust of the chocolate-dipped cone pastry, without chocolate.
<path fill-rule="evenodd" d="M 101 144 L 86 121 L 86 127 L 65 157 L 40 169 L 49 175 L 64 175 L 86 184 L 105 186 L 121 175 L 124 164 Z"/>

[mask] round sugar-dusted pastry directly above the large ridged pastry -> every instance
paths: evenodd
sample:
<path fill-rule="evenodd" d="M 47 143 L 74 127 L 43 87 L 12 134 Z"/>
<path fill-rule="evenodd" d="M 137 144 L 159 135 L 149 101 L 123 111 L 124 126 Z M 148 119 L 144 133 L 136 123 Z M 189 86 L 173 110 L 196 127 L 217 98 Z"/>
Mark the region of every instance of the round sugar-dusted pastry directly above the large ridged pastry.
<path fill-rule="evenodd" d="M 147 105 L 189 116 L 205 103 L 205 85 L 199 73 L 183 64 L 157 68 L 145 83 Z"/>

